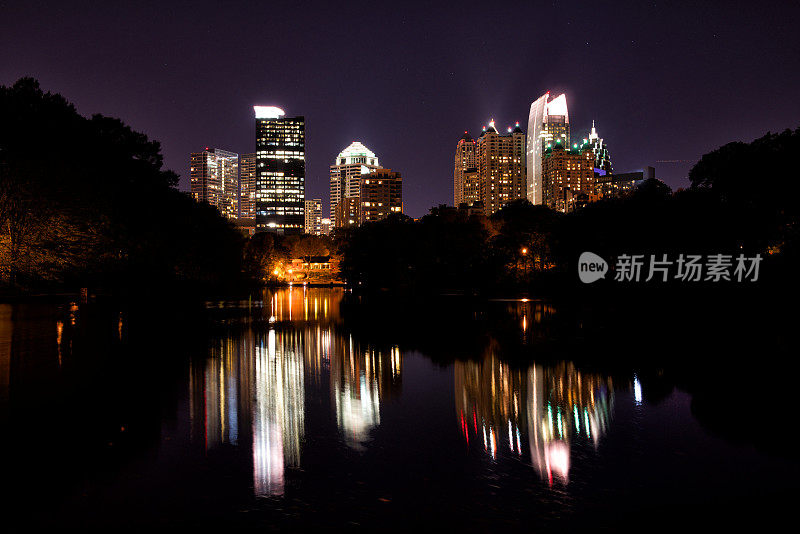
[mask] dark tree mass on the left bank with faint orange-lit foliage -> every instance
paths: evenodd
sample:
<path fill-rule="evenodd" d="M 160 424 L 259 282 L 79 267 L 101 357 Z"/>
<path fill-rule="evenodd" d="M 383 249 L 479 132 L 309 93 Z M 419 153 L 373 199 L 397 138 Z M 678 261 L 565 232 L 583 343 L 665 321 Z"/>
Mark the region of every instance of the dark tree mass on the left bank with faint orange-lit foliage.
<path fill-rule="evenodd" d="M 218 284 L 242 239 L 162 168 L 160 145 L 24 78 L 0 87 L 0 284 Z"/>

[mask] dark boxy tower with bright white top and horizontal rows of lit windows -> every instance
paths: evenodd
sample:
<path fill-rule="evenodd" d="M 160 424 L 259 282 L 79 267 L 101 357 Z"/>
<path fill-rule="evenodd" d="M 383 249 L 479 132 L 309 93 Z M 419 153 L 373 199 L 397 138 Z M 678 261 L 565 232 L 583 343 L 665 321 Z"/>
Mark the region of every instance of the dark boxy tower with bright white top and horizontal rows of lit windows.
<path fill-rule="evenodd" d="M 303 116 L 254 106 L 256 231 L 301 234 L 305 226 L 306 136 Z"/>

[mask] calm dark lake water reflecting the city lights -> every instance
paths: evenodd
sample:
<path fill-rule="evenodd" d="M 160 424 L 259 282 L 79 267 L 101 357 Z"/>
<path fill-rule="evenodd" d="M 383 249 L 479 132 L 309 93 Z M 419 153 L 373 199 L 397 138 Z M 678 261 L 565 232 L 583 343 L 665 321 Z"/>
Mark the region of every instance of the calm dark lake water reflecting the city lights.
<path fill-rule="evenodd" d="M 791 515 L 796 408 L 768 384 L 728 384 L 703 410 L 635 358 L 561 359 L 547 342 L 565 320 L 541 301 L 454 298 L 403 324 L 365 306 L 303 287 L 189 311 L 0 304 L 0 521 L 647 531 Z M 753 403 L 785 426 L 737 415 Z"/>

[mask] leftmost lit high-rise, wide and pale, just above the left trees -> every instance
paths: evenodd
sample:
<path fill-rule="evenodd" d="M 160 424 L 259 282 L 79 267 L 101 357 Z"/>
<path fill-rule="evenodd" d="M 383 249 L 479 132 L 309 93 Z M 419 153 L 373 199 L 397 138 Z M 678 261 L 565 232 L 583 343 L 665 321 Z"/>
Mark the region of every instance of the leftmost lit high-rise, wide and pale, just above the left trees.
<path fill-rule="evenodd" d="M 205 148 L 189 156 L 190 192 L 198 202 L 217 208 L 228 219 L 239 216 L 239 155 Z"/>

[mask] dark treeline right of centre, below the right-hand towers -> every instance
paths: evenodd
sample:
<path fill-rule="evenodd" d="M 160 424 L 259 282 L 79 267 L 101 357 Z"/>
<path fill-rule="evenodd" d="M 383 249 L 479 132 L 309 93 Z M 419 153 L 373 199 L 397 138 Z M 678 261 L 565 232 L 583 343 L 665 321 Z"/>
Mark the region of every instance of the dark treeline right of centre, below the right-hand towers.
<path fill-rule="evenodd" d="M 787 281 L 798 265 L 798 153 L 800 129 L 786 130 L 703 156 L 691 187 L 674 193 L 651 179 L 566 215 L 516 201 L 489 219 L 441 206 L 419 221 L 364 225 L 343 243 L 343 275 L 404 294 L 541 291 L 575 286 L 584 251 L 610 262 L 621 254 L 742 253 L 764 257 L 761 280 Z"/>

